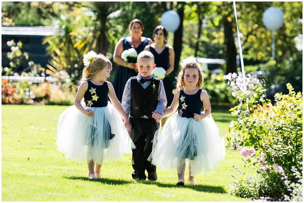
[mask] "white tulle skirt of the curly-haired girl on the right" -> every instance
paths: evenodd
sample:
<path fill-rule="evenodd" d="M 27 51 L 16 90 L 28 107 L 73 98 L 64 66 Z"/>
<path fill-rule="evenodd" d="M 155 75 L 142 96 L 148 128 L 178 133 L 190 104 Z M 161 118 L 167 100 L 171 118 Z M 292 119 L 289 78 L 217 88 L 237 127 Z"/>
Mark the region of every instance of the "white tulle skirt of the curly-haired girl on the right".
<path fill-rule="evenodd" d="M 213 118 L 195 121 L 174 113 L 159 129 L 153 139 L 152 153 L 148 158 L 161 169 L 177 169 L 188 160 L 191 176 L 217 168 L 226 155 L 224 138 Z"/>

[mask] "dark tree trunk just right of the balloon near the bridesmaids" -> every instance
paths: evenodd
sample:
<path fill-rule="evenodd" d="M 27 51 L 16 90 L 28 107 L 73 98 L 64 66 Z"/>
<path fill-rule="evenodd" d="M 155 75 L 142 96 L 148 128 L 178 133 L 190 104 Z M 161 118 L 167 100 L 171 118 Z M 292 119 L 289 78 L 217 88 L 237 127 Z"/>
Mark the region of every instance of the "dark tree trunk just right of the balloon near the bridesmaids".
<path fill-rule="evenodd" d="M 173 49 L 175 52 L 175 59 L 174 59 L 174 75 L 179 70 L 180 58 L 181 58 L 181 44 L 182 44 L 182 37 L 183 37 L 183 19 L 184 19 L 184 5 L 185 2 L 178 2 L 180 8 L 178 9 L 177 13 L 181 18 L 181 23 L 178 29 L 174 33 L 174 40 L 173 40 Z"/>

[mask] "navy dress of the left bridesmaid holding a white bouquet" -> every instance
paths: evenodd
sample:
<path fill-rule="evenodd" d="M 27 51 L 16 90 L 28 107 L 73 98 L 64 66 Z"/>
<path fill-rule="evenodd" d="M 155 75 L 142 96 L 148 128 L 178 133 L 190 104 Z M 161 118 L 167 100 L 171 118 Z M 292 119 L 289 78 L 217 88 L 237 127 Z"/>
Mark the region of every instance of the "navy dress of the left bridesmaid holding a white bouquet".
<path fill-rule="evenodd" d="M 148 38 L 146 37 L 145 40 L 141 42 L 141 44 L 134 49 L 136 50 L 137 54 L 139 54 L 140 52 L 143 51 L 143 49 L 147 45 L 148 45 Z M 130 45 L 130 43 L 127 41 L 126 38 L 123 38 L 123 51 L 128 50 L 130 48 L 133 47 Z M 136 63 L 136 61 L 134 61 L 133 63 Z M 134 69 L 130 69 L 121 65 L 117 66 L 116 74 L 114 76 L 114 80 L 112 84 L 115 90 L 115 94 L 120 102 L 123 98 L 123 90 L 125 88 L 126 82 L 130 77 L 134 77 L 136 75 L 137 72 Z"/>

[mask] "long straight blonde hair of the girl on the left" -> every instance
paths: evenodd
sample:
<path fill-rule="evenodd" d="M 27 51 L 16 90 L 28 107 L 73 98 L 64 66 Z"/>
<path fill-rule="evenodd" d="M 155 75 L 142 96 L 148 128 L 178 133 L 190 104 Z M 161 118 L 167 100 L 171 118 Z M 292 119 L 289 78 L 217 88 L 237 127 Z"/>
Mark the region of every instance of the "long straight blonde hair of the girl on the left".
<path fill-rule="evenodd" d="M 92 80 L 96 73 L 102 69 L 106 68 L 107 70 L 112 70 L 112 63 L 111 61 L 106 58 L 103 54 L 96 55 L 89 65 L 85 66 L 82 71 L 82 77 L 78 81 L 78 86 L 81 85 L 82 82 L 85 80 Z"/>

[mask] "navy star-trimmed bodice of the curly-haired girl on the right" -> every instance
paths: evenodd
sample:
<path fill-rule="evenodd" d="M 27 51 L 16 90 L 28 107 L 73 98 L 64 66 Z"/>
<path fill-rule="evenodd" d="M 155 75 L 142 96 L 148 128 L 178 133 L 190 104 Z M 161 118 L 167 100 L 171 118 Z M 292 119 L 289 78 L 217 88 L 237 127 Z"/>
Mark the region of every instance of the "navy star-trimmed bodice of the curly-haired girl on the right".
<path fill-rule="evenodd" d="M 187 95 L 182 89 L 178 98 L 178 114 L 181 117 L 193 118 L 193 114 L 201 114 L 203 103 L 201 100 L 201 92 L 199 89 L 194 95 Z"/>

